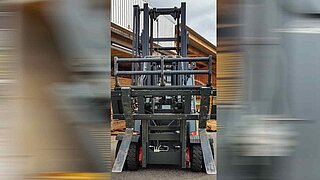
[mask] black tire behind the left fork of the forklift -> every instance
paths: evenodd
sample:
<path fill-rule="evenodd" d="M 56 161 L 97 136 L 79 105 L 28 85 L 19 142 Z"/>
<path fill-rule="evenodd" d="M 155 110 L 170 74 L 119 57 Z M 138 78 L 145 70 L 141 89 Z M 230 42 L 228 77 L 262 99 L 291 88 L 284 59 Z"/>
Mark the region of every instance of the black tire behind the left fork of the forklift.
<path fill-rule="evenodd" d="M 129 171 L 137 171 L 140 167 L 139 162 L 139 143 L 131 143 L 126 159 L 127 168 Z"/>

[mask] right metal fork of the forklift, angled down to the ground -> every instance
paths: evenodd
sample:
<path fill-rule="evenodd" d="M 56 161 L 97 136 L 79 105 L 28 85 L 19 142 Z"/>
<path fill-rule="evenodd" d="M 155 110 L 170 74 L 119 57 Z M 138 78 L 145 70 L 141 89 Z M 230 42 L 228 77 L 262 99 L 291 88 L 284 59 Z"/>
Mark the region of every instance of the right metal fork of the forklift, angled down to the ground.
<path fill-rule="evenodd" d="M 212 156 L 212 150 L 211 150 L 209 138 L 207 135 L 207 131 L 206 129 L 199 129 L 199 132 L 200 132 L 202 155 L 203 155 L 206 172 L 207 174 L 217 174 L 217 169 Z"/>

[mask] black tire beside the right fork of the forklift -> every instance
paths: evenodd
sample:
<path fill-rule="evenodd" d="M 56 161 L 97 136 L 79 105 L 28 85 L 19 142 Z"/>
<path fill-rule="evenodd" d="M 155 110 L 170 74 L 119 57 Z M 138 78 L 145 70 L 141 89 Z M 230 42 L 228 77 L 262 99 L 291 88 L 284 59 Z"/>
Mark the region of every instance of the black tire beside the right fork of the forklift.
<path fill-rule="evenodd" d="M 191 171 L 200 172 L 203 166 L 203 156 L 200 144 L 193 144 L 190 151 Z"/>

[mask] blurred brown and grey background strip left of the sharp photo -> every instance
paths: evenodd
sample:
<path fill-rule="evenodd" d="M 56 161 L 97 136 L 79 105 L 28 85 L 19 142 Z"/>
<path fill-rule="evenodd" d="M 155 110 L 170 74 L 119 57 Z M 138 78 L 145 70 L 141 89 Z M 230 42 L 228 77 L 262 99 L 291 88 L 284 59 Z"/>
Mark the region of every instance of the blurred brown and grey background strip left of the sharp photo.
<path fill-rule="evenodd" d="M 0 179 L 110 174 L 110 2 L 0 2 Z"/>

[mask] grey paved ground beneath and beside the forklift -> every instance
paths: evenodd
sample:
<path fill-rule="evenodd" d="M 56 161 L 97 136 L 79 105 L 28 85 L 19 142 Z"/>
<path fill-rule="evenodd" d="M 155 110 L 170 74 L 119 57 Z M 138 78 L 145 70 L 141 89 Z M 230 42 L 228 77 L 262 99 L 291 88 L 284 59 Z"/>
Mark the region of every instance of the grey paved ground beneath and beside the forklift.
<path fill-rule="evenodd" d="M 214 137 L 216 142 L 217 134 L 210 133 Z M 116 149 L 117 141 L 115 140 L 115 136 L 111 137 L 111 153 L 112 153 L 112 164 L 115 159 L 115 149 Z M 216 144 L 214 144 L 215 148 L 215 159 L 216 159 Z M 150 180 L 150 179 L 201 179 L 201 180 L 216 180 L 216 175 L 207 175 L 206 173 L 195 173 L 190 170 L 182 170 L 178 167 L 172 166 L 148 166 L 147 169 L 139 169 L 138 171 L 123 171 L 122 173 L 112 173 L 112 179 L 139 179 L 139 180 Z"/>

